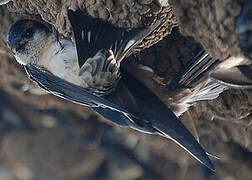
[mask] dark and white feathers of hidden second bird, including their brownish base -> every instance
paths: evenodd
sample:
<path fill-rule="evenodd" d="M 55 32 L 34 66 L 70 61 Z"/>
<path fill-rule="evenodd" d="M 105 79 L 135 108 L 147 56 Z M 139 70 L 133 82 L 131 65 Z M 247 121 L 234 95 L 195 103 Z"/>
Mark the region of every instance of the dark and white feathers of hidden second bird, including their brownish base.
<path fill-rule="evenodd" d="M 172 106 L 177 109 L 177 115 L 185 112 L 194 102 L 213 100 L 228 89 L 227 86 L 209 78 L 210 73 L 218 64 L 218 60 L 202 50 L 166 87 L 168 92 L 175 92 L 175 94 L 185 92 L 182 96 L 178 96 L 183 98 L 176 100 L 173 97 Z"/>

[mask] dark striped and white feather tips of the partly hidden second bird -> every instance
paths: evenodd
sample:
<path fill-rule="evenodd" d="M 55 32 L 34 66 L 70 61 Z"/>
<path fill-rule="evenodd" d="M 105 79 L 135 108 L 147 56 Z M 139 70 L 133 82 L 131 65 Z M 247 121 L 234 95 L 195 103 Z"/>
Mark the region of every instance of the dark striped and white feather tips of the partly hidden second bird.
<path fill-rule="evenodd" d="M 178 88 L 197 89 L 197 93 L 191 96 L 186 103 L 215 99 L 227 89 L 227 86 L 209 78 L 212 69 L 218 64 L 218 60 L 213 59 L 206 51 L 202 50 L 188 62 L 167 88 L 170 91 L 175 91 Z"/>

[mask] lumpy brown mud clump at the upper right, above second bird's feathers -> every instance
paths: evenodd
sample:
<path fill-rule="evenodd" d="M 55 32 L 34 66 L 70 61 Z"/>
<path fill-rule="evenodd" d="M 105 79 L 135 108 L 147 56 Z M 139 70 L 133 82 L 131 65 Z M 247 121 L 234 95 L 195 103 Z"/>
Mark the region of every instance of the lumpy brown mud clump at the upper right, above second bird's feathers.
<path fill-rule="evenodd" d="M 193 36 L 215 58 L 245 55 L 239 47 L 236 19 L 245 0 L 169 0 L 180 31 Z"/>

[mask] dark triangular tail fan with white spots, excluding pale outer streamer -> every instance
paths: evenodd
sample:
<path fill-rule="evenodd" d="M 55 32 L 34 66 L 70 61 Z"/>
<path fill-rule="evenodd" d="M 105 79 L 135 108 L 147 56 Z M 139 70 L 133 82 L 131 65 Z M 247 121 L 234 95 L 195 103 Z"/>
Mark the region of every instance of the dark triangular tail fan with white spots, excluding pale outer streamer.
<path fill-rule="evenodd" d="M 80 10 L 68 10 L 68 18 L 74 32 L 80 67 L 89 57 L 93 57 L 101 49 L 109 49 L 120 36 L 124 36 L 123 29 L 92 18 Z"/>

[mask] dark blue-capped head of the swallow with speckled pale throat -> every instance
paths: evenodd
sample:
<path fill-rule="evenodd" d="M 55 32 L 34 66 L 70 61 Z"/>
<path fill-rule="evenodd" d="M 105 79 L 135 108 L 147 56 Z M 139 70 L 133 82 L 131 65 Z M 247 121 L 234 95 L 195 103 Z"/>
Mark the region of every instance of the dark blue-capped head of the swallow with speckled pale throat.
<path fill-rule="evenodd" d="M 34 63 L 46 43 L 49 29 L 34 20 L 19 20 L 7 35 L 7 45 L 20 64 Z"/>

